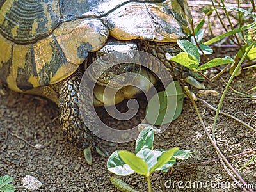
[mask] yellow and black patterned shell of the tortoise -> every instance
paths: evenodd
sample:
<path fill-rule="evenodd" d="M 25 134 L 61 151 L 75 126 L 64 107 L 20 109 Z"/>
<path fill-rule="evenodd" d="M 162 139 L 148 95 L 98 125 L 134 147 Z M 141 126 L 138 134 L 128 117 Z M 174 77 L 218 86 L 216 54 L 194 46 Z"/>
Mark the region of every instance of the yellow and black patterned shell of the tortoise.
<path fill-rule="evenodd" d="M 0 0 L 0 78 L 17 92 L 58 83 L 109 36 L 175 42 L 190 18 L 181 0 Z"/>

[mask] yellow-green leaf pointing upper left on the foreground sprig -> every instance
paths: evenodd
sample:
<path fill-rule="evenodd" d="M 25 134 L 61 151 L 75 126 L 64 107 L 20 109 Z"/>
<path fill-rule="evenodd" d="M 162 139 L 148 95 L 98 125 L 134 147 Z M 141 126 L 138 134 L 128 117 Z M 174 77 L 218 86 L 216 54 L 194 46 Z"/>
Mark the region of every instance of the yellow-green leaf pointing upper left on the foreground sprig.
<path fill-rule="evenodd" d="M 120 150 L 118 151 L 119 156 L 124 161 L 124 163 L 128 164 L 134 172 L 140 175 L 147 175 L 148 174 L 148 165 L 143 159 L 137 157 L 132 152 L 127 150 Z"/>

